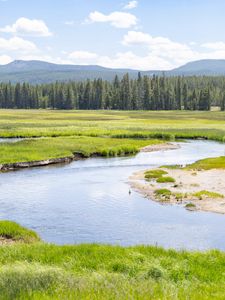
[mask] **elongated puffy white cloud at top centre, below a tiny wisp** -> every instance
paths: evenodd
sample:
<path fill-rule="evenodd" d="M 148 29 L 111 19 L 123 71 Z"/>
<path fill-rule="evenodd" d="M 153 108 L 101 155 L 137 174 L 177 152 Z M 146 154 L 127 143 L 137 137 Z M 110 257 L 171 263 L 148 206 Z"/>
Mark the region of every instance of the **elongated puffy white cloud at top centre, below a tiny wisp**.
<path fill-rule="evenodd" d="M 130 28 L 137 24 L 137 18 L 126 12 L 115 11 L 105 15 L 99 11 L 94 11 L 89 14 L 86 23 L 109 23 L 117 28 Z"/>

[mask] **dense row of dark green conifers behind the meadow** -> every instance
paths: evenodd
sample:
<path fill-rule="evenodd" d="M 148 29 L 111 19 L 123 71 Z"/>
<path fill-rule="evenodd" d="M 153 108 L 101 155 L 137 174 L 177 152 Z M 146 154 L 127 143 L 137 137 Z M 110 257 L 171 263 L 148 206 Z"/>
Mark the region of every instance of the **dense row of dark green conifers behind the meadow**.
<path fill-rule="evenodd" d="M 0 83 L 0 108 L 114 109 L 114 110 L 225 110 L 225 77 L 142 76 L 125 74 L 113 81 L 31 85 Z"/>

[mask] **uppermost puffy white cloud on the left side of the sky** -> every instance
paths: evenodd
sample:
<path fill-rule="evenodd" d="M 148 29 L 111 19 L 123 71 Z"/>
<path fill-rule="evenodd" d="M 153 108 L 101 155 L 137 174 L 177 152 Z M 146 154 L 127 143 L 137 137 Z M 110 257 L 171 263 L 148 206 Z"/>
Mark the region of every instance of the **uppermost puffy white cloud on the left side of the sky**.
<path fill-rule="evenodd" d="M 27 18 L 19 18 L 14 24 L 7 25 L 0 29 L 1 32 L 13 33 L 16 35 L 29 36 L 51 36 L 47 25 L 43 20 L 31 20 Z"/>

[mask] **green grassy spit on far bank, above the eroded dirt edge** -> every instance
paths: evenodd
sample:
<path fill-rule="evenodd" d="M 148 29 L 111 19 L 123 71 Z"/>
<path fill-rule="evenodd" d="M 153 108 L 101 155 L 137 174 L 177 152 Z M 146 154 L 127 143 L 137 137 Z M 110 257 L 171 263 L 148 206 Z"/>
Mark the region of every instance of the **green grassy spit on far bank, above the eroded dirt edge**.
<path fill-rule="evenodd" d="M 28 139 L 0 144 L 0 164 L 72 157 L 74 154 L 84 157 L 131 155 L 144 146 L 158 143 L 162 141 L 76 136 Z"/>

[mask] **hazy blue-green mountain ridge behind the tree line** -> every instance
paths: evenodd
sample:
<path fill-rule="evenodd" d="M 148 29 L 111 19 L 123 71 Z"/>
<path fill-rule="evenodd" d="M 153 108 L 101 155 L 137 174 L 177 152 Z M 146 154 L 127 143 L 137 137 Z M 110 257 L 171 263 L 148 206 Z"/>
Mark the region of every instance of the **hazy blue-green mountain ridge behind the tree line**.
<path fill-rule="evenodd" d="M 7 65 L 0 66 L 0 82 L 30 82 L 50 83 L 54 81 L 84 80 L 103 78 L 112 80 L 115 75 L 120 78 L 129 73 L 131 78 L 136 78 L 138 70 L 131 69 L 110 69 L 95 65 L 60 65 L 44 61 L 23 61 L 15 60 Z M 143 75 L 225 75 L 225 60 L 199 60 L 190 62 L 184 66 L 171 71 L 142 71 Z"/>

